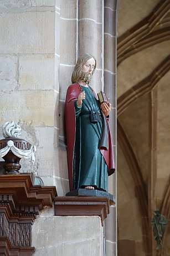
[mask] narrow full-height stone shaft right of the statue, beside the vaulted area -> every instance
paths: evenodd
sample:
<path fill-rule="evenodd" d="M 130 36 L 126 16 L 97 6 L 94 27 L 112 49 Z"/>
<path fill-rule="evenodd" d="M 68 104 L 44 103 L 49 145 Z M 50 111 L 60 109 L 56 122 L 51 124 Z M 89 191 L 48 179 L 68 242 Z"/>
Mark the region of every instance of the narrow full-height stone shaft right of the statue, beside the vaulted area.
<path fill-rule="evenodd" d="M 116 158 L 116 24 L 117 0 L 105 1 L 105 47 L 104 47 L 104 90 L 110 98 L 112 111 L 110 127 Z M 109 192 L 116 196 L 116 173 L 109 178 Z M 117 255 L 117 209 L 110 207 L 110 214 L 105 220 L 106 255 Z"/>

